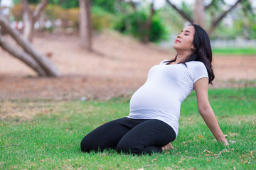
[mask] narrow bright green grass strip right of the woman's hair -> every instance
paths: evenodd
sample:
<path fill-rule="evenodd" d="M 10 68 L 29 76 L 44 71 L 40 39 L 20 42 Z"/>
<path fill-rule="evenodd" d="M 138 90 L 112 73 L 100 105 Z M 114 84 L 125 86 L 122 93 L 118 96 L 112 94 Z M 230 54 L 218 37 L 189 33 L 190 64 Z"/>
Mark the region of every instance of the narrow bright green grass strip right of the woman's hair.
<path fill-rule="evenodd" d="M 213 55 L 256 55 L 255 48 L 213 48 Z"/>

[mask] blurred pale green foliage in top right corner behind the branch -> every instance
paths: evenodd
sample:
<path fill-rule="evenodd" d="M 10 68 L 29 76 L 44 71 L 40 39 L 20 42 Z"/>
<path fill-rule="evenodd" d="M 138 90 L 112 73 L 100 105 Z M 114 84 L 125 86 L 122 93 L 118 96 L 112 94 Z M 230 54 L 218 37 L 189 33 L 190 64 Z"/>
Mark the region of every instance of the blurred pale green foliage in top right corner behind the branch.
<path fill-rule="evenodd" d="M 217 3 L 217 2 L 216 2 Z M 218 4 L 211 6 L 206 15 L 207 26 L 210 25 L 209 18 L 217 18 L 218 15 L 223 12 L 218 6 L 223 5 L 224 2 L 218 1 Z M 256 17 L 253 13 L 253 8 L 249 0 L 242 1 L 242 4 L 233 11 L 228 13 L 229 18 L 232 18 L 231 26 L 226 23 L 225 18 L 220 22 L 218 27 L 211 35 L 211 39 L 256 39 Z"/>

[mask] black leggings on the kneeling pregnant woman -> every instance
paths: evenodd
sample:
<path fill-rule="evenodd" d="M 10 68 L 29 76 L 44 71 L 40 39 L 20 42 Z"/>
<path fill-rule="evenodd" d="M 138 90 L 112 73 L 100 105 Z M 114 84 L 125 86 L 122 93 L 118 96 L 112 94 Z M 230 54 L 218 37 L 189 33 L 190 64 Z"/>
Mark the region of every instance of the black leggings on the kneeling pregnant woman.
<path fill-rule="evenodd" d="M 170 125 L 156 119 L 120 118 L 92 130 L 81 142 L 82 152 L 115 148 L 117 152 L 151 154 L 174 141 L 176 134 Z"/>

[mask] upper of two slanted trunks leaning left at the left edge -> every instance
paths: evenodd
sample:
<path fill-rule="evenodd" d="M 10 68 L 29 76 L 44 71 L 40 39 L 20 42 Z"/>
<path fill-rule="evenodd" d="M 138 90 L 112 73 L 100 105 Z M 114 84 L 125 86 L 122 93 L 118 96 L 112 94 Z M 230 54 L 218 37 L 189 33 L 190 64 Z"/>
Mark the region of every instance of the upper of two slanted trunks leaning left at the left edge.
<path fill-rule="evenodd" d="M 6 21 L 6 19 L 1 15 L 0 15 L 0 26 L 4 28 L 4 30 L 6 30 L 6 32 L 9 33 L 12 38 L 14 38 L 14 40 L 16 40 L 18 45 L 20 45 L 23 48 L 23 50 L 25 50 L 25 52 L 31 55 L 31 57 L 33 57 L 33 59 L 36 60 L 36 62 L 38 62 L 38 64 L 41 65 L 41 67 L 46 72 L 47 76 L 50 76 L 50 77 L 60 76 L 60 72 L 58 71 L 58 69 L 56 69 L 55 65 L 52 62 L 50 62 L 48 58 L 46 58 L 45 56 L 41 55 L 38 51 L 36 51 L 33 48 L 33 45 L 31 45 L 31 42 L 23 38 L 23 36 L 20 33 L 18 33 L 18 30 L 11 28 L 11 26 L 9 26 L 8 21 Z"/>

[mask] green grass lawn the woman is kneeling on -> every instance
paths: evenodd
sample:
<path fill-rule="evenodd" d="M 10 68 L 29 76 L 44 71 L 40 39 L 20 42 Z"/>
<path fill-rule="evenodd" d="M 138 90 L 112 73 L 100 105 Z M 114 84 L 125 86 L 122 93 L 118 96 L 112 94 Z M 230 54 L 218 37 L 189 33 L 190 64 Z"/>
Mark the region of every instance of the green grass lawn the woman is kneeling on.
<path fill-rule="evenodd" d="M 0 169 L 256 169 L 256 89 L 210 89 L 210 103 L 228 140 L 214 140 L 196 108 L 181 106 L 175 149 L 151 156 L 80 152 L 82 137 L 129 112 L 129 99 L 2 101 Z"/>

